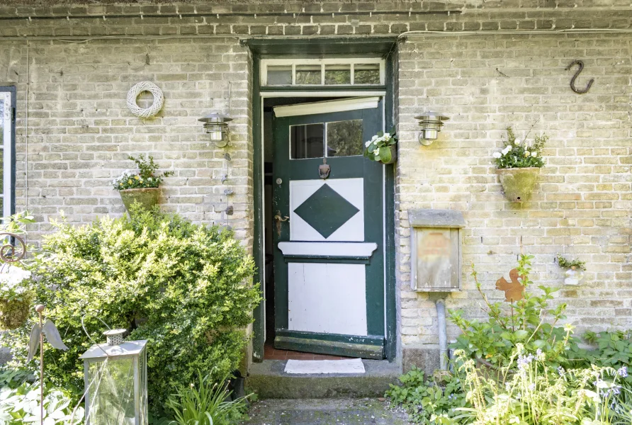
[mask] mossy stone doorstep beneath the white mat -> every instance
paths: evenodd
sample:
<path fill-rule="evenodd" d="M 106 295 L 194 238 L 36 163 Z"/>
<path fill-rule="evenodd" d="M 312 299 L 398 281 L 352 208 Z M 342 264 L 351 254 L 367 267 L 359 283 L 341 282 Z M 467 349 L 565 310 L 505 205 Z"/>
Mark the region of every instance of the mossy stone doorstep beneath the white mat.
<path fill-rule="evenodd" d="M 290 375 L 286 361 L 253 363 L 246 378 L 246 393 L 262 399 L 323 399 L 339 397 L 382 397 L 390 384 L 397 383 L 400 365 L 385 360 L 363 360 L 366 373 Z"/>

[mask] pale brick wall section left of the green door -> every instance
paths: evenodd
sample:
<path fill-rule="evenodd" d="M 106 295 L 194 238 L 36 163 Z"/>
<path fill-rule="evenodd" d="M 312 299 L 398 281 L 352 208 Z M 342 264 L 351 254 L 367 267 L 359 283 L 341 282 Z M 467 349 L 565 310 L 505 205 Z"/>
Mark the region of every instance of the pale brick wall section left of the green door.
<path fill-rule="evenodd" d="M 28 207 L 43 223 L 30 233 L 32 239 L 47 230 L 45 222 L 60 209 L 79 223 L 123 213 L 111 181 L 134 169 L 128 154 L 143 152 L 162 169 L 175 171 L 163 185 L 161 203 L 167 210 L 196 222 L 232 225 L 238 237 L 252 237 L 247 48 L 223 38 L 33 40 L 28 46 L 0 40 L 0 57 L 0 79 L 18 83 L 16 208 Z M 144 80 L 164 92 L 164 108 L 155 118 L 136 118 L 125 106 L 130 87 Z M 227 149 L 211 144 L 198 123 L 212 109 L 235 118 Z M 225 189 L 234 194 L 225 196 Z"/>

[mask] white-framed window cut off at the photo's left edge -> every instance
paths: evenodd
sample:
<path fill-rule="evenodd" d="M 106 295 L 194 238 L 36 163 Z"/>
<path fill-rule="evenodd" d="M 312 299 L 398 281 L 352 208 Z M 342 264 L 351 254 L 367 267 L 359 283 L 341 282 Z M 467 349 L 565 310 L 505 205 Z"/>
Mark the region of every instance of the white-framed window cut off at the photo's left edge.
<path fill-rule="evenodd" d="M 13 184 L 15 181 L 15 87 L 0 86 L 0 207 L 2 215 L 13 213 Z"/>

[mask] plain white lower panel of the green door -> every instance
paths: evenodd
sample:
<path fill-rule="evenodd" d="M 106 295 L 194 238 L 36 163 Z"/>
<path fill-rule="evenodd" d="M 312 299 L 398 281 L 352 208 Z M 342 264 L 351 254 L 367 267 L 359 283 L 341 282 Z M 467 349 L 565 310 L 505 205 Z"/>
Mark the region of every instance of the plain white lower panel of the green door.
<path fill-rule="evenodd" d="M 364 264 L 288 263 L 288 329 L 366 335 Z"/>

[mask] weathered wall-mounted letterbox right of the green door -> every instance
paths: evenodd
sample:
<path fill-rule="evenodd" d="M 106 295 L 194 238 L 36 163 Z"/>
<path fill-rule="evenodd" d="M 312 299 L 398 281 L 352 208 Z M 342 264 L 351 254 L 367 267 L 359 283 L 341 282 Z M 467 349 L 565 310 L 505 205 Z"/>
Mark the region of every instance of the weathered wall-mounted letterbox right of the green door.
<path fill-rule="evenodd" d="M 461 229 L 455 210 L 409 210 L 411 284 L 418 292 L 461 289 Z"/>

